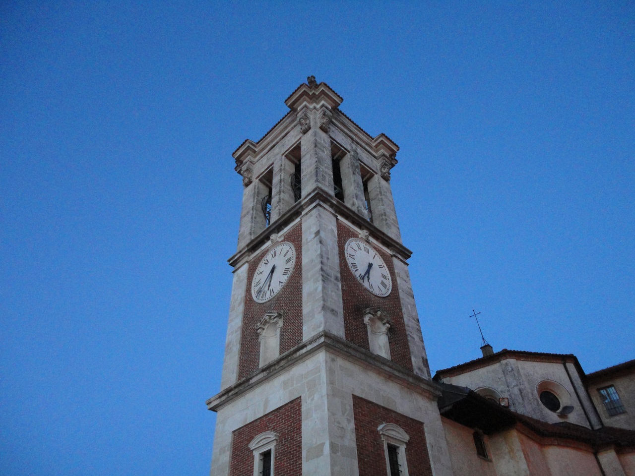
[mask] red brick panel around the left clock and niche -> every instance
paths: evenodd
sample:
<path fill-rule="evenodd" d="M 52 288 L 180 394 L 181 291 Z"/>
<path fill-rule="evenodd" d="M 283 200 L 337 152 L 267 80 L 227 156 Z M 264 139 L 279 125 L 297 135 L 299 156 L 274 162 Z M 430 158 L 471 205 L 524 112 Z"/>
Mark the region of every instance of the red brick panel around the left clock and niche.
<path fill-rule="evenodd" d="M 302 225 L 298 223 L 281 237 L 295 248 L 295 266 L 289 279 L 276 297 L 265 303 L 257 303 L 251 297 L 251 280 L 258 263 L 269 248 L 251 258 L 247 275 L 247 289 L 243 312 L 243 331 L 241 336 L 238 379 L 244 378 L 258 369 L 260 363 L 260 342 L 256 325 L 266 312 L 283 313 L 283 326 L 280 329 L 280 354 L 302 342 Z M 277 244 L 276 243 L 276 244 Z"/>

